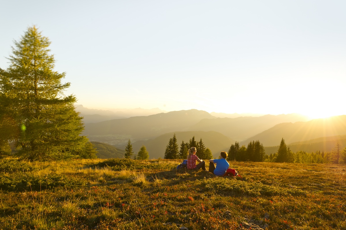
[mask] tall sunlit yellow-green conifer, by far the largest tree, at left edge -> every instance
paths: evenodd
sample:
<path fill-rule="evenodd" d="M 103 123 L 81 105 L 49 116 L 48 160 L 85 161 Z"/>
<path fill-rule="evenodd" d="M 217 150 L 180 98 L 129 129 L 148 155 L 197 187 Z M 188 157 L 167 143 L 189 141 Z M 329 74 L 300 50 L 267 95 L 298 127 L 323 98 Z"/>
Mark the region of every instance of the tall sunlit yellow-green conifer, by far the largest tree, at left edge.
<path fill-rule="evenodd" d="M 63 94 L 70 83 L 62 84 L 65 73 L 53 70 L 49 45 L 34 26 L 12 47 L 10 66 L 0 72 L 0 110 L 11 121 L 1 116 L 0 126 L 13 126 L 18 135 L 4 137 L 2 132 L 0 145 L 14 141 L 19 156 L 33 160 L 94 157 L 88 138 L 80 136 L 84 127 L 74 110 L 76 98 Z"/>

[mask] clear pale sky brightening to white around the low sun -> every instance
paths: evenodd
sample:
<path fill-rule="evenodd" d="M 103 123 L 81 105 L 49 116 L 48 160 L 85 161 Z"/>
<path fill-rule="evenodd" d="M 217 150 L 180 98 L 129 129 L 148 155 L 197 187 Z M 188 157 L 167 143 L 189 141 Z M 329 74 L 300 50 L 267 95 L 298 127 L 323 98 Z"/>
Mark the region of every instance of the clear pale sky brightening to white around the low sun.
<path fill-rule="evenodd" d="M 30 26 L 93 109 L 346 114 L 346 1 L 1 3 L 0 67 Z"/>

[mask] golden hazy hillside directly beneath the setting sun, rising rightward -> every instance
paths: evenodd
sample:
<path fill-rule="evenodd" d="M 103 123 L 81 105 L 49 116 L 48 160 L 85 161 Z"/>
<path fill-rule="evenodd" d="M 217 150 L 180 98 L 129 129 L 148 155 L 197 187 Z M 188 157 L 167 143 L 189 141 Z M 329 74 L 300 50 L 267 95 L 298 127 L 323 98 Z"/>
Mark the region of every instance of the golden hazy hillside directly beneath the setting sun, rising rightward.
<path fill-rule="evenodd" d="M 282 138 L 286 144 L 291 144 L 297 141 L 339 135 L 346 135 L 346 115 L 314 119 L 307 122 L 281 123 L 242 141 L 240 144 L 259 140 L 264 146 L 276 146 L 280 144 Z"/>

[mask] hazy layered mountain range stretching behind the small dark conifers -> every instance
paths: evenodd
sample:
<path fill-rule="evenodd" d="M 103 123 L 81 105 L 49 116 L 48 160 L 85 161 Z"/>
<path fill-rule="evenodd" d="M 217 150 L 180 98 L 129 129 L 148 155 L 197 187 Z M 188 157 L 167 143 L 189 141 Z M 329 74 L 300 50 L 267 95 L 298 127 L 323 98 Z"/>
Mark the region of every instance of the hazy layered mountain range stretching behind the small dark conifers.
<path fill-rule="evenodd" d="M 179 145 L 193 136 L 197 141 L 202 138 L 216 156 L 220 151 L 228 151 L 235 141 L 246 146 L 252 140 L 259 140 L 267 154 L 275 153 L 282 138 L 292 151 L 330 151 L 336 141 L 344 143 L 346 115 L 314 120 L 299 114 L 217 118 L 206 111 L 192 109 L 86 123 L 83 135 L 120 149 L 125 149 L 130 139 L 135 154 L 145 145 L 150 158 L 163 158 L 174 133 Z"/>

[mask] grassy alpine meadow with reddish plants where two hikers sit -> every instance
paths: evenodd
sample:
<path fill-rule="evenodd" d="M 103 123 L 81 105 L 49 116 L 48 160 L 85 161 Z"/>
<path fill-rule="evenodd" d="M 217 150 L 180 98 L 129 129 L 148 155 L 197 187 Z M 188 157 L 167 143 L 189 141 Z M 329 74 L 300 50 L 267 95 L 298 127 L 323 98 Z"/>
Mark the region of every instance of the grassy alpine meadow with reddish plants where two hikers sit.
<path fill-rule="evenodd" d="M 0 160 L 0 229 L 346 229 L 345 165 Z M 206 162 L 206 166 L 209 163 Z"/>

